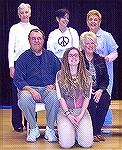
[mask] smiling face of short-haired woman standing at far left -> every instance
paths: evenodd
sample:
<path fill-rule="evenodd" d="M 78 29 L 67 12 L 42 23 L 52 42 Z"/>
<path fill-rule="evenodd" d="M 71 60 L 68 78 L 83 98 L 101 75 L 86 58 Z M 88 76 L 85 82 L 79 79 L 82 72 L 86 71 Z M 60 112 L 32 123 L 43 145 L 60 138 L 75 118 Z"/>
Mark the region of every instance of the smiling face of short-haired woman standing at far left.
<path fill-rule="evenodd" d="M 30 16 L 31 16 L 31 10 L 27 6 L 24 6 L 19 9 L 18 16 L 23 23 L 28 23 Z"/>

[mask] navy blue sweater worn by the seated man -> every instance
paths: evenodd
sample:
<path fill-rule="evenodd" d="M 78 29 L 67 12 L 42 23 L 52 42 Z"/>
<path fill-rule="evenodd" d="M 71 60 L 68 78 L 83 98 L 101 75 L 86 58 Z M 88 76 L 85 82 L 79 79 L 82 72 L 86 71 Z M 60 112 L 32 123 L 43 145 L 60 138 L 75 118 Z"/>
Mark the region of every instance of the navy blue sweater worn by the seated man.
<path fill-rule="evenodd" d="M 61 63 L 53 52 L 44 49 L 36 56 L 32 49 L 25 51 L 15 65 L 14 84 L 22 90 L 24 86 L 44 87 L 55 83 Z"/>

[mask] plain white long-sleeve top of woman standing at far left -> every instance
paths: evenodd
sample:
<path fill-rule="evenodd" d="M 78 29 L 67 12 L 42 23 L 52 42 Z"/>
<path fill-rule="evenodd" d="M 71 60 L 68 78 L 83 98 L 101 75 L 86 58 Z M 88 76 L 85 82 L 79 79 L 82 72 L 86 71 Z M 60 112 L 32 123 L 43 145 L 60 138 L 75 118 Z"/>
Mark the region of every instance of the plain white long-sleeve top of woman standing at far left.
<path fill-rule="evenodd" d="M 9 68 L 14 67 L 14 61 L 16 61 L 24 51 L 30 48 L 28 34 L 35 28 L 38 27 L 23 22 L 19 22 L 10 28 L 8 42 Z"/>

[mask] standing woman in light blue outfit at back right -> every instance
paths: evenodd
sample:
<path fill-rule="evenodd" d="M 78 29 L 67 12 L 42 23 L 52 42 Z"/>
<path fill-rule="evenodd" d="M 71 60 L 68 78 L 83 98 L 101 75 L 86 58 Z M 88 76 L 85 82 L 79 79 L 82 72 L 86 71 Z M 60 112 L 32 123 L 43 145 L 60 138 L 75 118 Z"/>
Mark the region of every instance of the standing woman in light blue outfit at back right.
<path fill-rule="evenodd" d="M 107 87 L 107 91 L 111 98 L 114 79 L 113 61 L 118 57 L 118 45 L 116 44 L 116 41 L 114 40 L 111 33 L 101 29 L 101 21 L 102 14 L 100 11 L 92 9 L 87 13 L 87 26 L 89 30 L 94 32 L 97 36 L 98 45 L 96 47 L 96 53 L 105 59 L 107 65 L 109 75 L 109 85 Z M 110 126 L 112 124 L 111 116 L 112 111 L 109 109 L 104 122 L 105 126 Z M 110 133 L 111 131 L 104 130 L 104 132 Z"/>

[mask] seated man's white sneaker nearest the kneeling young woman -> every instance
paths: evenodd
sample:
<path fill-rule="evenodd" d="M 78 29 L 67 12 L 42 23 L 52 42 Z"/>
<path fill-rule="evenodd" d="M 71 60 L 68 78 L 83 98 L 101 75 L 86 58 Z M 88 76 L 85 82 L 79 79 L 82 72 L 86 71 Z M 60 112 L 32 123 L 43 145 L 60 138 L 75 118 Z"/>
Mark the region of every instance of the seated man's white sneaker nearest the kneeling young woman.
<path fill-rule="evenodd" d="M 46 127 L 45 131 L 45 139 L 47 139 L 49 142 L 56 142 L 58 139 L 55 135 L 55 131 L 50 129 L 48 126 Z"/>

